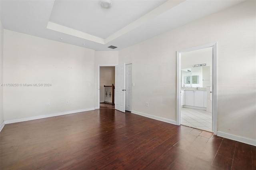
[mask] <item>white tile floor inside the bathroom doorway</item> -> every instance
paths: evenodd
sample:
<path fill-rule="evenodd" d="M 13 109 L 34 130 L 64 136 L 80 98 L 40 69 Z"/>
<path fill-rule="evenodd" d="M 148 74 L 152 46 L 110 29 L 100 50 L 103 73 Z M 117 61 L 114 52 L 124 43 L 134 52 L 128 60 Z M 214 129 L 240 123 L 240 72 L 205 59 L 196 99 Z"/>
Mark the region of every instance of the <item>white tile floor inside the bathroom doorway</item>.
<path fill-rule="evenodd" d="M 212 132 L 212 113 L 199 109 L 182 107 L 180 123 L 188 127 L 199 128 Z"/>

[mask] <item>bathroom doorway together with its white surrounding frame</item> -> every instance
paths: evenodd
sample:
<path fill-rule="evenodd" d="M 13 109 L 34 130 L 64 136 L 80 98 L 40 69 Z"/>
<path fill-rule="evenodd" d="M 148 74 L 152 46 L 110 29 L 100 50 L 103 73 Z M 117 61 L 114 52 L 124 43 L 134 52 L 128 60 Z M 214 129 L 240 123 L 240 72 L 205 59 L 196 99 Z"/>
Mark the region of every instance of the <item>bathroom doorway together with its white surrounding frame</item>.
<path fill-rule="evenodd" d="M 177 125 L 216 134 L 216 43 L 177 51 Z"/>

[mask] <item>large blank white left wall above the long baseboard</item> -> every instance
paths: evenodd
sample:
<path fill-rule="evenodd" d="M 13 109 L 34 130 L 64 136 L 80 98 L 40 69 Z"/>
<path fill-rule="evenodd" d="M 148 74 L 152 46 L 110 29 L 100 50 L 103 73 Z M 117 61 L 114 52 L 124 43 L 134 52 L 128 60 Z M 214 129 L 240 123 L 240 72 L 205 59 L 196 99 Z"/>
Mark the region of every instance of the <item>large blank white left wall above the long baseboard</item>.
<path fill-rule="evenodd" d="M 4 83 L 51 84 L 4 87 L 4 121 L 94 109 L 94 50 L 4 30 Z"/>

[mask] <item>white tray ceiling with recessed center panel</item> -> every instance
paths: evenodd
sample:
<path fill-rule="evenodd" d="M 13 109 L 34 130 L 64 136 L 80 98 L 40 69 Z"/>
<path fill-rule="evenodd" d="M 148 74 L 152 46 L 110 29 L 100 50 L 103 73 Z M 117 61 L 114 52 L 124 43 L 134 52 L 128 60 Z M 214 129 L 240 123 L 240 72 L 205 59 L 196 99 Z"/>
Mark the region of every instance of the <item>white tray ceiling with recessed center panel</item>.
<path fill-rule="evenodd" d="M 101 0 L 0 0 L 0 16 L 7 30 L 113 51 L 243 1 L 111 0 L 112 8 L 104 9 Z"/>

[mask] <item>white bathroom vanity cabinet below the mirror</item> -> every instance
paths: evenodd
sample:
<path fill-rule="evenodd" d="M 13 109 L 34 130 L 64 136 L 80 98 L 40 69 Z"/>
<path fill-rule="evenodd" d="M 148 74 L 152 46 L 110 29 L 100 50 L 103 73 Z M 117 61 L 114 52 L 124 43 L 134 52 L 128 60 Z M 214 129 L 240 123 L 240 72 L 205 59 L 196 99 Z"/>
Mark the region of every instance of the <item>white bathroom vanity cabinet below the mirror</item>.
<path fill-rule="evenodd" d="M 204 107 L 204 91 L 186 90 L 187 106 Z"/>

